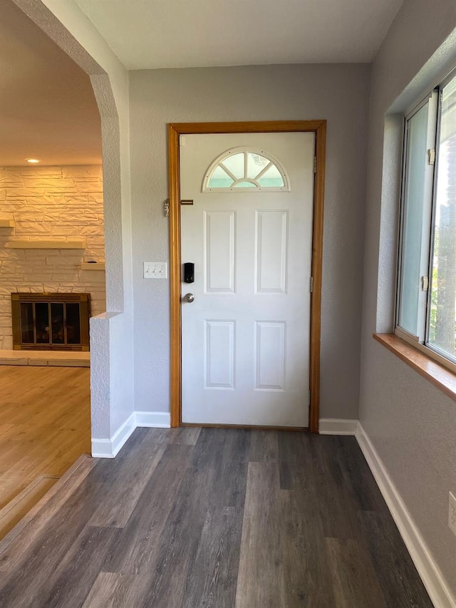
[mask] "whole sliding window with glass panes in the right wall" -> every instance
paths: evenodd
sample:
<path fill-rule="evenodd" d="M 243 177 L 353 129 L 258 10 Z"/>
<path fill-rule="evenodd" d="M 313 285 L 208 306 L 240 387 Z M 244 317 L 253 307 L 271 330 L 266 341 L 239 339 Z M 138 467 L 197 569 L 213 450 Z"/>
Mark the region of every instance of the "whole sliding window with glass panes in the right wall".
<path fill-rule="evenodd" d="M 456 371 L 456 78 L 405 121 L 395 333 Z"/>

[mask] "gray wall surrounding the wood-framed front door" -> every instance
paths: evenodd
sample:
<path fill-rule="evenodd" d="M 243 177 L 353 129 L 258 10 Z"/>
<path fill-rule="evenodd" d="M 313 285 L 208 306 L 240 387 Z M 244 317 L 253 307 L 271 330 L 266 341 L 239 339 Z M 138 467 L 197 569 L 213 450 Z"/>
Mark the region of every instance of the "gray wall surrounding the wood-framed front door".
<path fill-rule="evenodd" d="M 142 279 L 168 260 L 166 124 L 328 120 L 321 417 L 358 418 L 370 66 L 306 65 L 130 72 L 135 409 L 169 410 L 169 285 Z"/>

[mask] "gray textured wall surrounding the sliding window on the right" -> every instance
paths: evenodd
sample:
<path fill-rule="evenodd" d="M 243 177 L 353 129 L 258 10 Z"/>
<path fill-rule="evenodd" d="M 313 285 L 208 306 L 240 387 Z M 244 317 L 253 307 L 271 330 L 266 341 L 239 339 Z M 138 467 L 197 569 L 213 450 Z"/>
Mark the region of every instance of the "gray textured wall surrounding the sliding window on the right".
<path fill-rule="evenodd" d="M 360 396 L 363 428 L 453 593 L 456 537 L 447 517 L 448 492 L 456 493 L 456 403 L 372 334 L 393 329 L 401 129 L 385 113 L 403 113 L 456 65 L 455 36 L 445 41 L 455 26 L 454 0 L 405 0 L 373 64 Z"/>

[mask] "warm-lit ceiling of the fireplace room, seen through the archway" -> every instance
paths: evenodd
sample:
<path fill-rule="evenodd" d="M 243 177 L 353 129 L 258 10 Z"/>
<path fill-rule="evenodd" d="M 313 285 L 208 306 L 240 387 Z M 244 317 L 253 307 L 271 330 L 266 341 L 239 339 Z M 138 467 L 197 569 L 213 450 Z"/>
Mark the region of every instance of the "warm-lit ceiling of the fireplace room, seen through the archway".
<path fill-rule="evenodd" d="M 0 0 L 0 166 L 101 163 L 90 80 L 11 0 Z"/>

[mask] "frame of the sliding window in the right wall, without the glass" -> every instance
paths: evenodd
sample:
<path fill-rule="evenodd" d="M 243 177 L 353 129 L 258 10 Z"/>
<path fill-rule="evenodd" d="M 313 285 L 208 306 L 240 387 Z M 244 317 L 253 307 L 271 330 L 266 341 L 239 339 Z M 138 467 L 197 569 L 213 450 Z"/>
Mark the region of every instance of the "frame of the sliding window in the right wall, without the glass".
<path fill-rule="evenodd" d="M 430 359 L 445 366 L 450 371 L 456 373 L 456 359 L 453 360 L 437 348 L 434 344 L 429 344 L 429 319 L 430 319 L 430 276 L 432 273 L 432 250 L 434 240 L 434 220 L 436 208 L 436 176 L 438 171 L 438 143 L 440 138 L 440 103 L 442 88 L 455 78 L 455 73 L 445 78 L 440 86 L 431 91 L 423 98 L 404 118 L 404 137 L 403 137 L 403 163 L 402 163 L 402 182 L 400 195 L 400 222 L 399 222 L 399 238 L 398 238 L 398 277 L 396 287 L 396 306 L 395 306 L 395 329 L 394 333 L 400 339 L 411 344 L 418 351 L 426 354 Z M 418 336 L 411 334 L 399 325 L 399 309 L 400 297 L 403 286 L 402 268 L 403 268 L 403 241 L 405 227 L 405 196 L 407 192 L 407 177 L 408 177 L 408 123 L 424 105 L 429 103 L 429 113 L 432 117 L 428 122 L 427 129 L 427 150 L 433 151 L 435 155 L 434 164 L 426 165 L 425 169 L 425 208 L 423 210 L 423 230 L 422 230 L 422 255 L 421 255 L 421 271 L 422 279 L 427 279 L 427 289 L 422 288 L 420 294 L 420 302 L 418 304 Z M 432 152 L 431 152 L 432 153 Z"/>

